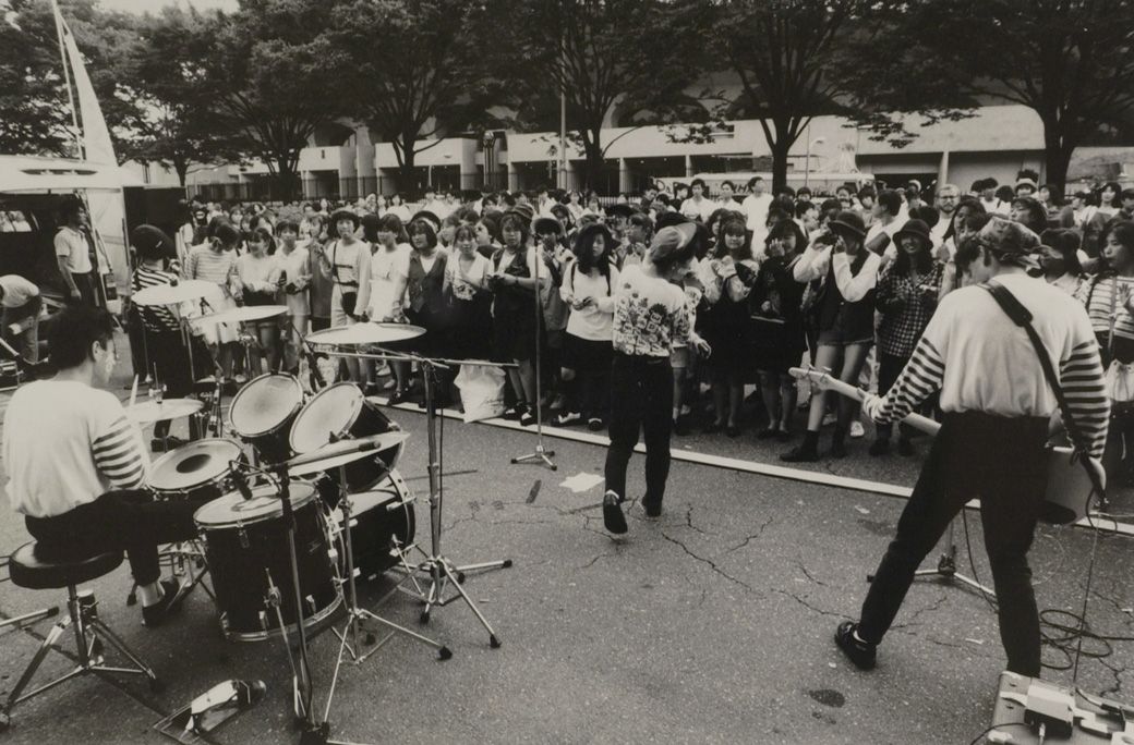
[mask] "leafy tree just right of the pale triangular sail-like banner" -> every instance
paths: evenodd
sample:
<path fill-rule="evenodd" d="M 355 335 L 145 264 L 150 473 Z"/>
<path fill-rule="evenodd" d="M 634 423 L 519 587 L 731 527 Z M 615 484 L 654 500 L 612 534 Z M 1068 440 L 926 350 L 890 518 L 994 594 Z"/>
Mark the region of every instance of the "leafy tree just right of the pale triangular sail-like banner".
<path fill-rule="evenodd" d="M 193 163 L 238 160 L 240 151 L 198 85 L 200 44 L 187 40 L 204 25 L 192 7 L 167 7 L 142 20 L 117 63 L 118 97 L 134 104 L 118 128 L 119 154 L 172 168 L 183 187 Z"/>

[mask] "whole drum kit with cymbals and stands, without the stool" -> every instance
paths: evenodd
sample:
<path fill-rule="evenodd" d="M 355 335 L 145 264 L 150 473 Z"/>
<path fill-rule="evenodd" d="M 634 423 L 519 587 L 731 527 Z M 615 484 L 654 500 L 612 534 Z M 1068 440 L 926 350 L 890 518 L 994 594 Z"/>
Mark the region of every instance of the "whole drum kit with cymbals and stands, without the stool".
<path fill-rule="evenodd" d="M 205 291 L 214 292 L 215 285 L 181 282 L 143 290 L 134 302 L 180 303 L 200 299 Z M 195 320 L 248 323 L 284 311 L 274 308 L 234 308 Z M 462 599 L 488 632 L 490 645 L 500 646 L 488 619 L 460 585 L 466 572 L 502 568 L 511 562 L 457 566 L 441 553 L 441 454 L 432 402 L 435 370 L 443 366 L 381 346 L 422 333 L 401 324 L 358 324 L 311 334 L 311 345 L 304 343 L 301 353 L 312 367 L 311 350 L 318 348 L 330 357 L 413 361 L 421 369 L 429 431 L 428 550 L 414 541 L 415 497 L 397 471 L 409 436 L 353 383 L 335 383 L 308 394 L 291 375 L 255 377 L 232 397 L 227 431 L 213 427 L 205 433 L 212 437 L 167 452 L 152 465 L 149 487 L 155 498 L 194 499 L 203 505 L 194 514 L 200 542 L 174 547 L 169 555 L 179 557 L 181 566 L 188 557 L 202 567 L 195 576 L 189 572 L 191 589 L 205 573 L 210 575 L 211 589 L 201 586 L 217 606 L 227 640 L 284 640 L 296 720 L 308 734 L 322 733 L 322 739 L 314 742 L 325 742 L 344 661 L 361 665 L 395 634 L 431 646 L 440 659 L 451 657 L 440 642 L 359 607 L 356 582 L 397 572 L 396 590 L 422 603 L 422 623 L 428 623 L 432 608 Z M 212 404 L 211 418 L 217 418 L 219 392 Z M 197 400 L 159 399 L 130 405 L 127 413 L 144 425 L 206 412 Z M 421 555 L 416 562 L 411 559 L 415 551 Z M 407 583 L 412 589 L 404 586 Z M 446 597 L 450 588 L 456 594 Z M 339 615 L 346 616 L 341 631 L 331 626 Z M 389 633 L 375 644 L 378 626 Z M 328 627 L 340 645 L 319 723 L 312 709 L 308 636 Z M 364 644 L 375 645 L 364 650 Z"/>

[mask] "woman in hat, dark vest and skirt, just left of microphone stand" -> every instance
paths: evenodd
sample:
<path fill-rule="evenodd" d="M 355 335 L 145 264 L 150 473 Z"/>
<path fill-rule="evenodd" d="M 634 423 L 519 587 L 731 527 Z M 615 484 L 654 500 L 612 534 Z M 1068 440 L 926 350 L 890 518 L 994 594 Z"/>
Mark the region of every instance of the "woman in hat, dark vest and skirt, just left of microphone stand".
<path fill-rule="evenodd" d="M 535 356 L 540 324 L 535 318 L 536 251 L 530 245 L 530 220 L 519 212 L 505 213 L 500 221 L 503 247 L 492 256 L 490 286 L 492 301 L 493 357 L 516 362 L 508 368 L 508 380 L 516 394 L 516 405 L 505 419 L 518 419 L 524 426 L 535 423 Z M 547 282 L 547 272 L 540 272 Z"/>

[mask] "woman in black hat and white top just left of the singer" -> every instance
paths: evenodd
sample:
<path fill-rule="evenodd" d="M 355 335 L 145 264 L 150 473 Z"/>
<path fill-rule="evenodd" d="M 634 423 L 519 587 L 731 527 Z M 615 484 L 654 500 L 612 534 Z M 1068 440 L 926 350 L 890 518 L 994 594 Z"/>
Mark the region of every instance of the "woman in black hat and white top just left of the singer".
<path fill-rule="evenodd" d="M 618 268 L 611 250 L 615 237 L 606 225 L 583 228 L 575 238 L 575 259 L 564 272 L 560 296 L 570 306 L 560 373 L 566 405 L 553 423 L 586 420 L 602 429 L 610 405 L 610 361 L 613 354 L 615 300 Z"/>

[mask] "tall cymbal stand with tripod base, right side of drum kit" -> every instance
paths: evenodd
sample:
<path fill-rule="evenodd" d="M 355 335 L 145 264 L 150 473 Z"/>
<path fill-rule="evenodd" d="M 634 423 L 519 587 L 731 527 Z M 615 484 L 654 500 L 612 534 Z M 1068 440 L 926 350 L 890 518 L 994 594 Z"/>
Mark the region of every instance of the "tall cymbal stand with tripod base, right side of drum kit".
<path fill-rule="evenodd" d="M 356 324 L 350 328 L 357 328 L 363 324 Z M 378 324 L 373 324 L 378 325 Z M 396 324 L 395 324 L 396 325 Z M 320 332 L 323 333 L 323 332 Z M 355 337 L 348 342 L 337 342 L 342 345 L 353 344 L 370 344 L 372 343 L 365 335 L 359 335 L 357 339 L 363 339 L 363 341 L 353 341 Z M 460 599 L 468 606 L 473 615 L 481 623 L 484 630 L 489 633 L 489 645 L 493 649 L 500 646 L 500 639 L 496 635 L 492 630 L 491 624 L 489 624 L 488 618 L 481 613 L 480 608 L 473 601 L 468 593 L 465 592 L 464 588 L 460 586 L 465 580 L 466 572 L 480 572 L 488 570 L 499 570 L 508 568 L 511 566 L 511 559 L 498 559 L 494 562 L 484 562 L 481 564 L 469 564 L 466 566 L 457 566 L 447 556 L 441 553 L 441 508 L 443 506 L 443 483 L 441 479 L 441 451 L 438 446 L 438 412 L 437 405 L 434 403 L 434 385 L 435 385 L 435 374 L 438 369 L 446 369 L 447 365 L 440 360 L 435 360 L 428 357 L 421 357 L 418 354 L 395 352 L 382 346 L 375 346 L 374 351 L 366 353 L 356 352 L 342 352 L 339 350 L 332 350 L 329 352 L 331 357 L 352 357 L 369 360 L 387 360 L 387 361 L 401 361 L 401 362 L 416 362 L 422 373 L 422 379 L 425 389 L 425 427 L 429 440 L 429 505 L 430 505 L 430 550 L 421 548 L 417 543 L 413 543 L 408 547 L 408 550 L 417 550 L 422 555 L 421 563 L 416 565 L 411 565 L 412 571 L 407 572 L 407 576 L 414 576 L 415 573 L 424 574 L 429 576 L 429 588 L 422 589 L 416 582 L 414 583 L 415 590 L 411 591 L 398 585 L 398 590 L 401 592 L 417 598 L 422 603 L 424 603 L 424 609 L 421 614 L 421 622 L 429 623 L 430 613 L 433 607 L 443 608 L 454 600 Z M 446 360 L 448 362 L 449 360 Z M 477 365 L 488 362 L 459 362 L 459 363 L 471 363 Z M 494 363 L 493 363 L 494 365 Z M 298 422 L 298 420 L 296 420 Z M 408 562 L 407 562 L 408 564 Z M 448 598 L 445 597 L 446 590 L 449 585 L 452 585 L 456 590 L 456 594 Z"/>

